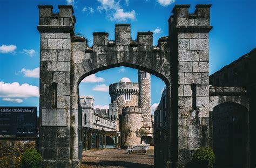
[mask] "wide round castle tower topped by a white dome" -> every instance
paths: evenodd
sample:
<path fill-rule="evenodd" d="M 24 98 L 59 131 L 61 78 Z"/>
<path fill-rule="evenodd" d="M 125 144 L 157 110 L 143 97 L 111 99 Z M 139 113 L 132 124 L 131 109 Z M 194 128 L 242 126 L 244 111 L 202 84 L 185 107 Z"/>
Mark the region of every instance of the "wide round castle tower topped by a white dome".
<path fill-rule="evenodd" d="M 118 104 L 118 116 L 122 115 L 122 109 L 126 106 L 138 106 L 139 85 L 131 82 L 129 78 L 122 78 L 119 83 L 109 86 L 111 103 Z"/>

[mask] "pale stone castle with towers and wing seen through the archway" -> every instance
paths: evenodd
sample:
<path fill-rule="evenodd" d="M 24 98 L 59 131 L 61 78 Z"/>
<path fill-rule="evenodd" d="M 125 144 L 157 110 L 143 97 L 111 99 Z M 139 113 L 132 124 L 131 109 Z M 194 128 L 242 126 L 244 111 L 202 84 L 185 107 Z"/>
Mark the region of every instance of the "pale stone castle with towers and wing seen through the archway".
<path fill-rule="evenodd" d="M 111 103 L 109 109 L 95 109 L 92 96 L 80 96 L 82 107 L 82 125 L 104 131 L 120 131 L 122 145 L 137 145 L 142 141 L 152 144 L 153 132 L 151 121 L 151 75 L 138 71 L 138 83 L 129 78 L 122 78 L 109 86 Z M 103 122 L 102 122 L 103 121 Z M 138 130 L 146 129 L 147 136 L 139 137 Z M 130 131 L 129 135 L 124 132 Z"/>

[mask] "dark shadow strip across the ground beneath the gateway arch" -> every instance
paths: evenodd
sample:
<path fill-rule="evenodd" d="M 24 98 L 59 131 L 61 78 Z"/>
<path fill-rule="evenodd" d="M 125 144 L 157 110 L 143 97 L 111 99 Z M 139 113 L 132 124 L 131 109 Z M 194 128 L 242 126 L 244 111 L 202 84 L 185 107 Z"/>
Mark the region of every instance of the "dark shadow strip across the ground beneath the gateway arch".
<path fill-rule="evenodd" d="M 150 167 L 153 165 L 132 163 L 125 161 L 110 161 L 110 160 L 100 160 L 99 162 L 82 162 L 83 165 L 93 165 L 93 166 L 122 166 L 122 167 Z"/>

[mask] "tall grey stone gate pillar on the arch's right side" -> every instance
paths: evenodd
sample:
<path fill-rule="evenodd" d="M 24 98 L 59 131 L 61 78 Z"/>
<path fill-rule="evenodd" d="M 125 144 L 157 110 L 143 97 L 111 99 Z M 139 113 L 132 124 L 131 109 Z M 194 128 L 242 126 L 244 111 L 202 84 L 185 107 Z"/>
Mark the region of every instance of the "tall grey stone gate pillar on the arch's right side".
<path fill-rule="evenodd" d="M 209 144 L 208 32 L 210 6 L 175 5 L 169 19 L 171 44 L 171 143 L 174 167 L 184 167 Z M 188 166 L 189 167 L 189 166 Z"/>

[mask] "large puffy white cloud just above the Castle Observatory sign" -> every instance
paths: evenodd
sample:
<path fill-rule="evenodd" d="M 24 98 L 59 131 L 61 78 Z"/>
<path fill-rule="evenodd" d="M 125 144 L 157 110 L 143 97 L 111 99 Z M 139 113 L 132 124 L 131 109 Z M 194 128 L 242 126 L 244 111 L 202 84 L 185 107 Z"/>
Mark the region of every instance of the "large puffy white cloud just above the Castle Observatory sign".
<path fill-rule="evenodd" d="M 4 83 L 0 82 L 0 97 L 9 98 L 28 98 L 39 97 L 39 87 L 23 83 L 19 85 L 18 82 Z"/>

